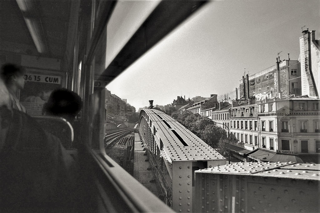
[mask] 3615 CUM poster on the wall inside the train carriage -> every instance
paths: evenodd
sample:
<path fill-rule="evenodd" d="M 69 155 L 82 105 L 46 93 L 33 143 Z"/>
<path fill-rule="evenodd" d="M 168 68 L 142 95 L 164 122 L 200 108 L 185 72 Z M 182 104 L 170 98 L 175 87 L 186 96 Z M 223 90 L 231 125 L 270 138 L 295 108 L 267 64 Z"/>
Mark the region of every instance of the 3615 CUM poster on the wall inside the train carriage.
<path fill-rule="evenodd" d="M 61 87 L 62 77 L 57 75 L 26 73 L 24 89 L 20 91 L 20 103 L 31 116 L 42 115 L 44 103 L 51 92 Z"/>

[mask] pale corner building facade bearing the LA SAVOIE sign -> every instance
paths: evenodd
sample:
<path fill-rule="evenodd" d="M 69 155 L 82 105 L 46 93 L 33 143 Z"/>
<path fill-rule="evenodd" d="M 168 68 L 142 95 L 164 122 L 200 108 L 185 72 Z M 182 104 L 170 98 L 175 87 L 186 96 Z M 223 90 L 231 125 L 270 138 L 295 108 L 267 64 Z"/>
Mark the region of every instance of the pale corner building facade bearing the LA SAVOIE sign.
<path fill-rule="evenodd" d="M 320 157 L 320 99 L 288 97 L 259 103 L 263 148 L 298 155 L 303 161 Z M 290 151 L 290 152 L 286 152 Z"/>

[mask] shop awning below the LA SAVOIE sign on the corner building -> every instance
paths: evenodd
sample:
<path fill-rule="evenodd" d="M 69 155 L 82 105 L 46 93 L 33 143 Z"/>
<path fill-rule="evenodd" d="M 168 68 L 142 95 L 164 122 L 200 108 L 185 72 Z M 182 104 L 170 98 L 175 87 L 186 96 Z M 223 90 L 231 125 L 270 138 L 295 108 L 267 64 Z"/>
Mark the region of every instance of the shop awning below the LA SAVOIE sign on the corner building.
<path fill-rule="evenodd" d="M 264 162 L 295 162 L 295 163 L 304 163 L 300 157 L 295 155 L 282 155 L 276 154 L 274 152 L 270 152 L 263 149 L 256 149 L 248 154 L 248 157 L 261 160 Z"/>

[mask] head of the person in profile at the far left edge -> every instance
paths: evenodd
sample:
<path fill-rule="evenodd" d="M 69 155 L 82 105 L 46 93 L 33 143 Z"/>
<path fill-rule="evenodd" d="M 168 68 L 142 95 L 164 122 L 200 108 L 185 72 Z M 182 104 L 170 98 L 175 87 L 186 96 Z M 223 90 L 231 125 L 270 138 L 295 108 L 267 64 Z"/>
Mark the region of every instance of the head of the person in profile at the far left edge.
<path fill-rule="evenodd" d="M 5 64 L 1 67 L 1 78 L 7 87 L 14 86 L 17 89 L 23 89 L 25 73 L 25 70 L 21 66 L 14 64 Z"/>

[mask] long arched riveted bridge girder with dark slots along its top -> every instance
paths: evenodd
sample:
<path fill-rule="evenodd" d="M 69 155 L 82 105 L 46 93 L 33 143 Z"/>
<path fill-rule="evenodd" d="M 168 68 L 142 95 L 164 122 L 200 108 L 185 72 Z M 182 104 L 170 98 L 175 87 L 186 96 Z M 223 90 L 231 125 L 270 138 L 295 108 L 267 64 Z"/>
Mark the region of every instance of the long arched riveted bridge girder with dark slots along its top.
<path fill-rule="evenodd" d="M 192 211 L 194 172 L 226 159 L 164 112 L 140 111 L 139 132 L 155 171 L 161 199 L 177 212 Z"/>

